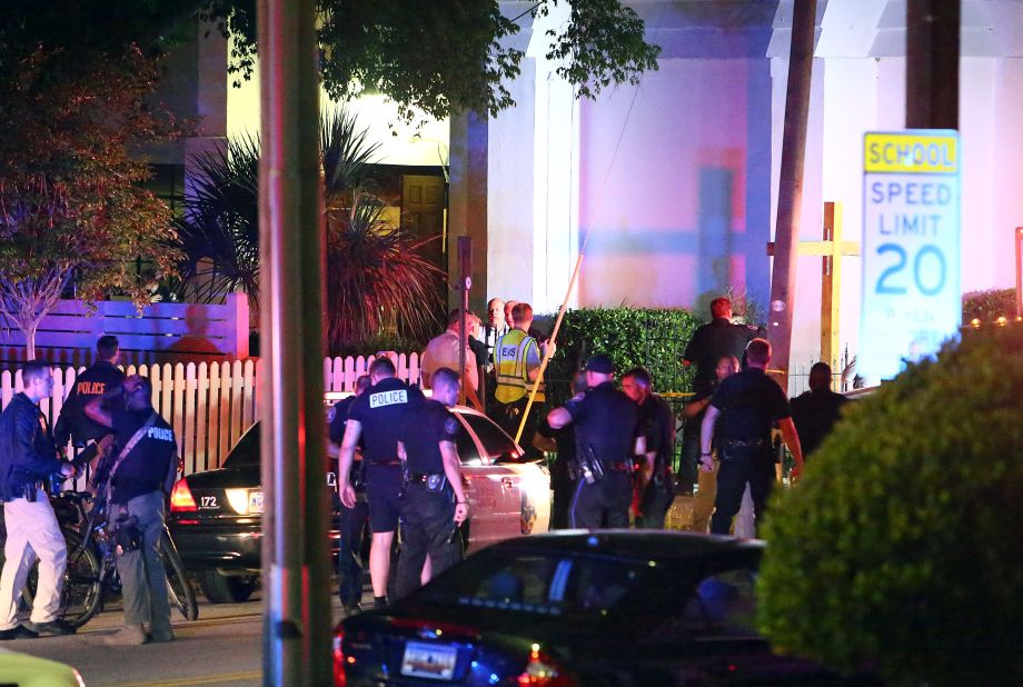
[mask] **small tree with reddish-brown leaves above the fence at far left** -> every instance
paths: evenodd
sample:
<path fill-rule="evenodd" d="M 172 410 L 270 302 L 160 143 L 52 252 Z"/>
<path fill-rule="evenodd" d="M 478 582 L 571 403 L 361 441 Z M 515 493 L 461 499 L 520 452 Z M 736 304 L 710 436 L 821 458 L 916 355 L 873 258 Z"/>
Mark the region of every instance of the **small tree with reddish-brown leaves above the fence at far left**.
<path fill-rule="evenodd" d="M 0 311 L 30 339 L 72 276 L 78 296 L 138 302 L 135 260 L 170 270 L 170 217 L 138 146 L 176 132 L 147 104 L 157 66 L 137 48 L 68 59 L 37 48 L 0 70 Z"/>

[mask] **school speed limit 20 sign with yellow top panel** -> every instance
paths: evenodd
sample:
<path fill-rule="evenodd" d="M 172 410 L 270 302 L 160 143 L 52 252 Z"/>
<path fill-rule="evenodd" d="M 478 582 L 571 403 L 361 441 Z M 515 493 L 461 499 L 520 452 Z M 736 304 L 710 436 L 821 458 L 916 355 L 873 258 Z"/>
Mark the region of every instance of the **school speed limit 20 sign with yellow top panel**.
<path fill-rule="evenodd" d="M 860 374 L 891 379 L 962 323 L 956 131 L 866 133 Z"/>

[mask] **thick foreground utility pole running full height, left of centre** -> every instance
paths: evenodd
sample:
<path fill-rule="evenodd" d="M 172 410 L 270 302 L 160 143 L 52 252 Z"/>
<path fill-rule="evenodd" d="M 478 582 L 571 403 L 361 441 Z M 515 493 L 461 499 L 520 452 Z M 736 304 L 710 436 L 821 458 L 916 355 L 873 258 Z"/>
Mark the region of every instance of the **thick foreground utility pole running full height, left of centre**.
<path fill-rule="evenodd" d="M 258 0 L 264 685 L 332 681 L 315 0 Z"/>

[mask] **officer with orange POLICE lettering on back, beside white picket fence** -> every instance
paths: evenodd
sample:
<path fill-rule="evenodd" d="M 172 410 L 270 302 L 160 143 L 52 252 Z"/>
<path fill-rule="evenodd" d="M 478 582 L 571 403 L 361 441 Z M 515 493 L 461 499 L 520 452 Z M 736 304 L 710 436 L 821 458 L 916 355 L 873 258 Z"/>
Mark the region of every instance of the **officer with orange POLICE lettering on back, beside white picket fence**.
<path fill-rule="evenodd" d="M 75 380 L 68 398 L 60 408 L 60 417 L 53 429 L 57 448 L 63 450 L 70 440 L 76 449 L 86 449 L 76 458 L 77 465 L 92 460 L 105 437 L 112 436 L 106 427 L 97 425 L 86 417 L 85 407 L 91 399 L 102 396 L 108 390 L 117 389 L 125 381 L 125 372 L 117 367 L 120 356 L 119 344 L 115 336 L 102 336 L 96 342 L 96 362 L 82 370 Z M 109 442 L 103 442 L 106 447 Z"/>

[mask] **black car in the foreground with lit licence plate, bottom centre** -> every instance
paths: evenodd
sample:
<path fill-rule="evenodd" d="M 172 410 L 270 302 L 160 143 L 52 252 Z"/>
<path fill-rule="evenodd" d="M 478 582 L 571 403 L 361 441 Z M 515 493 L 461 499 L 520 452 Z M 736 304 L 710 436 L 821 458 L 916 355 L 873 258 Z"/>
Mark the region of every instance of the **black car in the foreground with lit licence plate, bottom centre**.
<path fill-rule="evenodd" d="M 655 530 L 506 540 L 341 621 L 335 685 L 856 684 L 753 629 L 763 546 Z"/>

